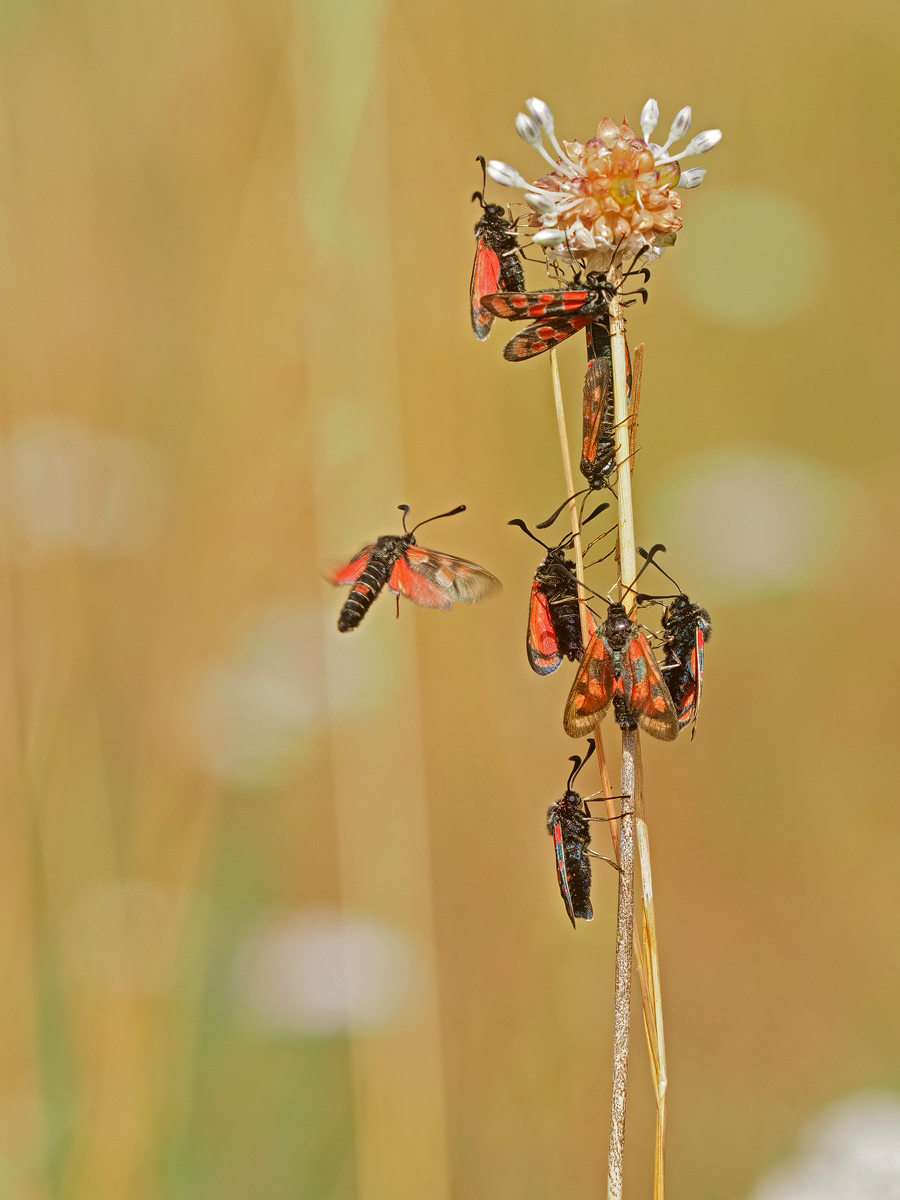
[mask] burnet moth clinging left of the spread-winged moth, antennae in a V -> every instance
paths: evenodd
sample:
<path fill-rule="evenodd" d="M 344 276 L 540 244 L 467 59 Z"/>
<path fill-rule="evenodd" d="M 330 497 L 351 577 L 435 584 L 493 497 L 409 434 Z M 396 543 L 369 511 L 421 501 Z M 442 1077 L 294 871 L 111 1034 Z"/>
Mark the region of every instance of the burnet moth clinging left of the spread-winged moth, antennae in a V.
<path fill-rule="evenodd" d="M 608 508 L 608 504 L 601 504 L 582 524 L 593 521 L 595 516 Z M 535 538 L 524 521 L 518 517 L 508 523 L 518 526 L 533 541 L 547 551 L 534 572 L 532 583 L 526 650 L 532 671 L 538 674 L 551 674 L 564 658 L 575 662 L 581 659 L 584 650 L 578 613 L 577 581 L 574 575 L 575 563 L 565 557 L 572 548 L 574 535 L 569 533 L 556 546 L 548 546 L 540 538 Z M 590 613 L 588 613 L 588 618 L 593 636 L 596 623 Z"/>

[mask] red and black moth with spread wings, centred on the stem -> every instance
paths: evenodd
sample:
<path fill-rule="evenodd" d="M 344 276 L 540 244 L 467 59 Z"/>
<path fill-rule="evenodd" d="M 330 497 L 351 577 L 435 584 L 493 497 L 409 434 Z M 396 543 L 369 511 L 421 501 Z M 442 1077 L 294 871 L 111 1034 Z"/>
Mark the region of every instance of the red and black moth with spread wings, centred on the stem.
<path fill-rule="evenodd" d="M 622 604 L 610 605 L 584 650 L 565 704 L 565 732 L 571 738 L 590 733 L 611 704 L 624 730 L 641 728 L 661 742 L 678 737 L 678 714 L 659 664 Z"/>

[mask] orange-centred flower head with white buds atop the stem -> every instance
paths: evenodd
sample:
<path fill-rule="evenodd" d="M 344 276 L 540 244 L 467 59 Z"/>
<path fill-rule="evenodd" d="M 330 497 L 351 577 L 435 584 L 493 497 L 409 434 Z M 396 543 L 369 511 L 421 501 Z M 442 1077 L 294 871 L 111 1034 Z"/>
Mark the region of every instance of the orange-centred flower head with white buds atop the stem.
<path fill-rule="evenodd" d="M 527 188 L 526 202 L 532 208 L 528 226 L 535 229 L 533 240 L 551 256 L 566 259 L 590 259 L 594 270 L 608 270 L 644 250 L 644 260 L 659 257 L 674 241 L 682 228 L 678 210 L 682 198 L 676 191 L 697 187 L 704 170 L 682 173 L 679 160 L 706 154 L 720 140 L 721 130 L 706 130 L 684 150 L 670 148 L 690 130 L 691 110 L 676 115 L 665 145 L 649 140 L 659 120 L 659 106 L 648 100 L 641 112 L 638 137 L 628 122 L 617 125 L 608 116 L 587 143 L 557 142 L 553 114 L 542 100 L 526 103 L 528 113 L 516 118 L 518 136 L 547 160 L 552 170 L 527 184 L 518 172 L 502 162 L 488 163 L 488 173 L 506 187 Z M 542 137 L 550 138 L 552 157 Z"/>

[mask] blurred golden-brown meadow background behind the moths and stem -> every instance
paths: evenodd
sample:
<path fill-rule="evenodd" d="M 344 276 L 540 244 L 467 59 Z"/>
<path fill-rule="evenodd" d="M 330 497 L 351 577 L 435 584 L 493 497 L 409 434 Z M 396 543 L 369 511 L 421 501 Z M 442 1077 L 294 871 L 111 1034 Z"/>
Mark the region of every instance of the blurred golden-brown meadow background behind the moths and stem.
<path fill-rule="evenodd" d="M 574 934 L 506 527 L 548 368 L 467 312 L 533 95 L 725 131 L 630 310 L 638 539 L 714 623 L 647 746 L 670 1196 L 895 1194 L 899 56 L 876 0 L 4 5 L 0 1200 L 605 1194 L 614 878 Z M 461 502 L 503 596 L 338 636 L 324 571 Z M 638 1007 L 628 1133 L 636 1200 Z"/>

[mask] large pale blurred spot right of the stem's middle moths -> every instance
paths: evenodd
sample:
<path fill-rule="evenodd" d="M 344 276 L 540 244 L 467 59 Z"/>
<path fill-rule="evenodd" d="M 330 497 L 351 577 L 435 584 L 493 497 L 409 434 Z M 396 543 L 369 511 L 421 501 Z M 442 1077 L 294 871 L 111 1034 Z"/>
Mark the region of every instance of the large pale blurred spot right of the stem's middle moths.
<path fill-rule="evenodd" d="M 656 496 L 652 540 L 665 542 L 661 562 L 703 602 L 754 600 L 826 578 L 851 552 L 866 510 L 858 485 L 824 463 L 779 450 L 720 451 L 696 458 Z"/>

